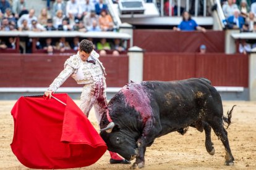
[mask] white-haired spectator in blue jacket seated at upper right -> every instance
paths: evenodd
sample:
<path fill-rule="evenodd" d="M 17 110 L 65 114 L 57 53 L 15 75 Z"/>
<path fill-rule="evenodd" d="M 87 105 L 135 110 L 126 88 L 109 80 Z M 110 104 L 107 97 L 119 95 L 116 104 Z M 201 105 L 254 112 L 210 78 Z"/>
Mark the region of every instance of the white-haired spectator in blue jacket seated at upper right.
<path fill-rule="evenodd" d="M 239 28 L 242 29 L 242 26 L 244 25 L 244 18 L 240 16 L 239 9 L 234 10 L 234 15 L 231 15 L 228 17 L 228 28 L 236 29 Z"/>

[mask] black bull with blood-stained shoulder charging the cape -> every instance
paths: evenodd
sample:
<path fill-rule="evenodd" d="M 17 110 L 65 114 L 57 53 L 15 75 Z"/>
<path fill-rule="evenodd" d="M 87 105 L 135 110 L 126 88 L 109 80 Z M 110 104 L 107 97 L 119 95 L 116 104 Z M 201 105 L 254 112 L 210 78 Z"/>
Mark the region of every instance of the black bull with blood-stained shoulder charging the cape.
<path fill-rule="evenodd" d="M 226 150 L 226 165 L 234 162 L 229 147 L 228 132 L 223 122 L 231 123 L 232 110 L 223 116 L 220 94 L 208 79 L 192 78 L 182 81 L 143 81 L 126 84 L 108 104 L 114 127 L 101 131 L 108 150 L 127 160 L 136 158 L 133 168 L 143 168 L 146 147 L 156 137 L 178 131 L 184 134 L 192 126 L 205 130 L 205 147 L 210 155 L 215 150 L 211 128 Z M 104 115 L 101 129 L 109 121 Z"/>

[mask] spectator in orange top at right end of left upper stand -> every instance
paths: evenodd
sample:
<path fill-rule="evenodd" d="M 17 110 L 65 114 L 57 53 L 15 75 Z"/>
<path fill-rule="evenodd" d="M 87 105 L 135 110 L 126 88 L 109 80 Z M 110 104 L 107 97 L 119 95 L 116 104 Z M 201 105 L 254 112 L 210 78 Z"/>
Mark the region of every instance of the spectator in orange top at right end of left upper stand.
<path fill-rule="evenodd" d="M 99 24 L 102 31 L 111 31 L 113 30 L 113 20 L 110 15 L 106 13 L 106 10 L 101 10 L 99 18 Z"/>

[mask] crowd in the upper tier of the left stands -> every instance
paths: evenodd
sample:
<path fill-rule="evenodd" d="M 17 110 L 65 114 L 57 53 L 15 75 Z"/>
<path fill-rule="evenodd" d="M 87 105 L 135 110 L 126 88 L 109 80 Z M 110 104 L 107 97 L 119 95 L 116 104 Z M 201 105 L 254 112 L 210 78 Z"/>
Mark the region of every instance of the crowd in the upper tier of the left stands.
<path fill-rule="evenodd" d="M 49 9 L 49 10 L 48 10 Z M 0 0 L 1 30 L 113 31 L 114 23 L 103 0 L 56 0 L 52 7 L 27 9 L 27 0 Z M 100 28 L 100 29 L 99 29 Z"/>

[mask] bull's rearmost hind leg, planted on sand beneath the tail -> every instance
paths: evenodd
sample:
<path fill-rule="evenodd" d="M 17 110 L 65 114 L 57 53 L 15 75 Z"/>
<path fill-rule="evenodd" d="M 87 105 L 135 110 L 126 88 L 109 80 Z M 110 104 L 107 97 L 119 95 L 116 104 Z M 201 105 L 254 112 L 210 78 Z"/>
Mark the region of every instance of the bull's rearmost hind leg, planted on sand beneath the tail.
<path fill-rule="evenodd" d="M 215 132 L 216 136 L 218 136 L 218 138 L 221 140 L 221 142 L 225 147 L 225 150 L 226 150 L 225 164 L 229 166 L 233 165 L 234 157 L 229 147 L 228 132 L 223 127 L 223 120 L 221 118 L 215 117 L 213 121 L 211 121 L 210 125 L 213 128 L 213 131 Z"/>

